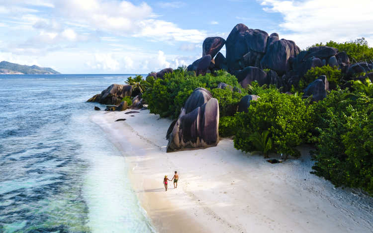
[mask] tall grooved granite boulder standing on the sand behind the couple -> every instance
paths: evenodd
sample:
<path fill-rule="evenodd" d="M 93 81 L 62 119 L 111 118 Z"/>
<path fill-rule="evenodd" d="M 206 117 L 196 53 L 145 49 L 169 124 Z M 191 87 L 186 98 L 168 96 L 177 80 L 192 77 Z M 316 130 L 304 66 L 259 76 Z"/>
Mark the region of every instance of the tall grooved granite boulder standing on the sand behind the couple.
<path fill-rule="evenodd" d="M 219 104 L 204 88 L 187 99 L 177 121 L 167 131 L 167 152 L 216 146 L 219 142 Z"/>

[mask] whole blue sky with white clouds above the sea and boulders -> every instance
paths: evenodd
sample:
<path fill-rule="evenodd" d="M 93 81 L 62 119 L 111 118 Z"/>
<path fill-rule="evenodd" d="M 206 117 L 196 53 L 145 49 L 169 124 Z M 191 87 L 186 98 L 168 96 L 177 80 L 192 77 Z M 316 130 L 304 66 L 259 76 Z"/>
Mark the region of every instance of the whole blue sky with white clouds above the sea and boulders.
<path fill-rule="evenodd" d="M 0 61 L 63 74 L 147 74 L 189 65 L 238 23 L 301 48 L 365 37 L 372 0 L 0 0 Z M 225 55 L 225 47 L 221 52 Z"/>

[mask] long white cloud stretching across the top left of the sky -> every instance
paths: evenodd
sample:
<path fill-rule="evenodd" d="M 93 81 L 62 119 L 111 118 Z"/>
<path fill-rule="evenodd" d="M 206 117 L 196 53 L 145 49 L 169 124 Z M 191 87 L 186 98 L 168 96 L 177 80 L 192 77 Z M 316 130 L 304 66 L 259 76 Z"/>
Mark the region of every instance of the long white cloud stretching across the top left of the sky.
<path fill-rule="evenodd" d="M 204 31 L 182 29 L 172 22 L 154 19 L 152 8 L 144 2 L 134 5 L 118 0 L 64 0 L 56 1 L 55 5 L 59 12 L 76 23 L 115 35 L 189 42 L 201 42 L 206 35 Z"/>

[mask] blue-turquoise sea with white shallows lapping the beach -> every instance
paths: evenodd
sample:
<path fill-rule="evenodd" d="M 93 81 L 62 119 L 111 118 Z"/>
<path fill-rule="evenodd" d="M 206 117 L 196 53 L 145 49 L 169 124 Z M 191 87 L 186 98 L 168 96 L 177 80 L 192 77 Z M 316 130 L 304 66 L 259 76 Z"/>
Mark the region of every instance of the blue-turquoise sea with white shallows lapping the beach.
<path fill-rule="evenodd" d="M 0 232 L 154 232 L 85 102 L 128 76 L 0 76 Z"/>

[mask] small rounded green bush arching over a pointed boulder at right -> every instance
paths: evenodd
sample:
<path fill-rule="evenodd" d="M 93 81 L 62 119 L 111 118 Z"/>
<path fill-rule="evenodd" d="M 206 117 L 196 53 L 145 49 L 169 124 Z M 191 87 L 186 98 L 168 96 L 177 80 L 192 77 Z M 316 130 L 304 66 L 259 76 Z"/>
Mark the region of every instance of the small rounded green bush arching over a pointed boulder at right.
<path fill-rule="evenodd" d="M 332 85 L 337 85 L 341 82 L 342 72 L 337 67 L 330 67 L 329 65 L 323 67 L 314 67 L 307 71 L 303 79 L 306 83 L 313 82 L 320 75 L 325 75 Z"/>

